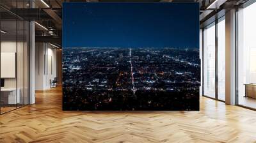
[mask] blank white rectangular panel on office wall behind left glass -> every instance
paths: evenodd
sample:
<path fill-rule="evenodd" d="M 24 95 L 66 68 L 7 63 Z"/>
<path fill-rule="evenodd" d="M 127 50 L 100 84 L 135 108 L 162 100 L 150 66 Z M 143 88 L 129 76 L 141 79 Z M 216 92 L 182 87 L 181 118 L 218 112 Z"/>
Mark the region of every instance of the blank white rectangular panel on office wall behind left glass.
<path fill-rule="evenodd" d="M 15 78 L 15 52 L 1 52 L 1 78 Z"/>

